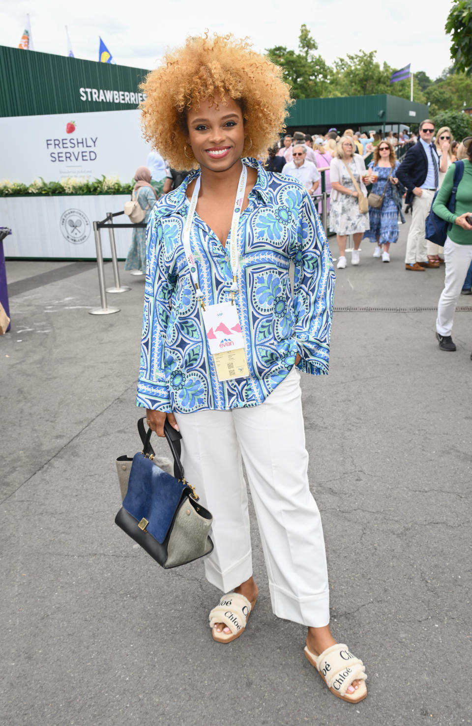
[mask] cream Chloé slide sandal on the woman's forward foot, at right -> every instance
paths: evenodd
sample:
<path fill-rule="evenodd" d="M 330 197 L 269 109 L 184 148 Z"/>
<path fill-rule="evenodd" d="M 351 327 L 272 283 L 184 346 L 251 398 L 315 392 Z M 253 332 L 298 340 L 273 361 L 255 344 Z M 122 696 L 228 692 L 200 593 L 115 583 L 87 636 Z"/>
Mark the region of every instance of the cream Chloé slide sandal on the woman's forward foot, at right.
<path fill-rule="evenodd" d="M 315 656 L 305 647 L 305 655 L 312 666 L 317 669 L 331 693 L 338 698 L 350 703 L 359 703 L 367 696 L 365 666 L 362 661 L 359 661 L 359 658 L 355 658 L 349 652 L 349 648 L 344 643 L 331 645 L 330 648 L 323 650 L 320 656 Z M 347 689 L 353 680 L 362 682 L 359 683 L 359 688 L 354 693 L 348 693 Z"/>

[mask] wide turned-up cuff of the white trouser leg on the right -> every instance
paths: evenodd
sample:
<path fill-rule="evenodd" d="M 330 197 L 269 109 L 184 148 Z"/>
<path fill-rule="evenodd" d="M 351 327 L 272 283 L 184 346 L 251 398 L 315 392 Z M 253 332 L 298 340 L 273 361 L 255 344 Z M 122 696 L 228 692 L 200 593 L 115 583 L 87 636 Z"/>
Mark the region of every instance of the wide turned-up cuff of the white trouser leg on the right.
<path fill-rule="evenodd" d="M 277 618 L 292 620 L 312 628 L 322 628 L 330 622 L 330 592 L 308 597 L 294 597 L 290 592 L 269 582 L 272 612 Z"/>

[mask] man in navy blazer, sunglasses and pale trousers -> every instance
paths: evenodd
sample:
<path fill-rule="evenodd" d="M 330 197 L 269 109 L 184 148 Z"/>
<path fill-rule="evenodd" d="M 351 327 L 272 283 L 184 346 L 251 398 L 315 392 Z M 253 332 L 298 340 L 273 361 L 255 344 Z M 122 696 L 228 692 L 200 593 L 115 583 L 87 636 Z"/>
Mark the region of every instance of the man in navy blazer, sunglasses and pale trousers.
<path fill-rule="evenodd" d="M 396 171 L 397 179 L 407 187 L 407 204 L 412 204 L 412 223 L 404 266 L 413 272 L 424 272 L 426 267 L 439 267 L 439 262 L 428 261 L 425 239 L 426 217 L 439 184 L 439 157 L 433 137 L 434 123 L 426 118 L 420 123 L 420 139 L 407 151 Z"/>

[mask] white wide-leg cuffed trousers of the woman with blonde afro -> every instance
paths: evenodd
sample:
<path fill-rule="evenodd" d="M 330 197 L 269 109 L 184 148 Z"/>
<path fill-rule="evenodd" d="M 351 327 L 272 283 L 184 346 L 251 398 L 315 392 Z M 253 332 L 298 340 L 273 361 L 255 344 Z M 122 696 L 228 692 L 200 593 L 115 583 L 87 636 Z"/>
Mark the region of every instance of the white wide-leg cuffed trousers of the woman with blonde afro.
<path fill-rule="evenodd" d="M 208 581 L 229 592 L 253 574 L 243 459 L 274 614 L 311 627 L 327 625 L 325 542 L 309 491 L 298 370 L 259 406 L 177 413 L 176 420 L 185 476 L 213 514 Z"/>

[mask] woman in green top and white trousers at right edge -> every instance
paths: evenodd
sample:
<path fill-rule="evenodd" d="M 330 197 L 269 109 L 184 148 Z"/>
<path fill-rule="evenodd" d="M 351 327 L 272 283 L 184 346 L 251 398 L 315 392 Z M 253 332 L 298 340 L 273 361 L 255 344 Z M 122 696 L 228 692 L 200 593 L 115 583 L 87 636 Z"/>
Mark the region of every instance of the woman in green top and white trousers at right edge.
<path fill-rule="evenodd" d="M 434 200 L 434 212 L 452 224 L 447 232 L 444 245 L 444 261 L 446 275 L 444 290 L 438 304 L 436 319 L 436 338 L 442 351 L 455 351 L 451 331 L 454 322 L 455 306 L 463 287 L 465 275 L 472 261 L 472 224 L 466 217 L 472 215 L 472 136 L 468 136 L 460 144 L 457 158 L 463 157 L 464 174 L 457 187 L 455 211 L 449 212 L 447 203 L 452 192 L 455 163 L 451 164 L 444 176 L 441 189 Z M 460 152 L 463 151 L 461 154 Z M 471 354 L 472 359 L 472 354 Z"/>

